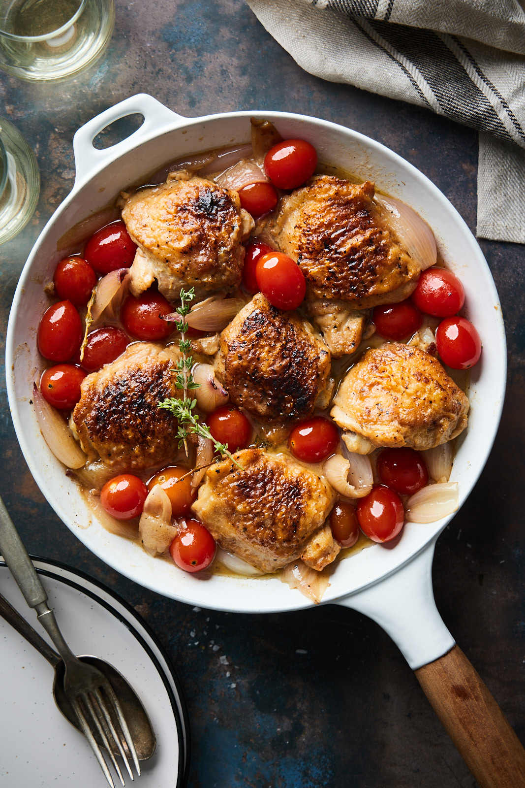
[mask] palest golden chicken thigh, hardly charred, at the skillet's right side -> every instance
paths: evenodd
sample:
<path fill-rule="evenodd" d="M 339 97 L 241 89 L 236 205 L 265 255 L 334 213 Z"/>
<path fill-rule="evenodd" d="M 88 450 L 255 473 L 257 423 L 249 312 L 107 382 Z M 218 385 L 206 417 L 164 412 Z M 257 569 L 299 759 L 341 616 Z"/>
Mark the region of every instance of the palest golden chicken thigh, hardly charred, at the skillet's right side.
<path fill-rule="evenodd" d="M 331 416 L 372 448 L 410 446 L 423 450 L 457 437 L 467 426 L 468 408 L 467 397 L 438 359 L 392 342 L 368 350 L 349 370 L 335 396 Z"/>

